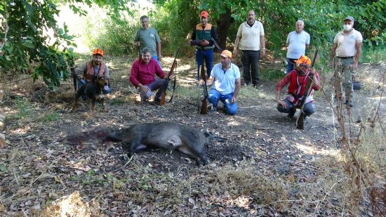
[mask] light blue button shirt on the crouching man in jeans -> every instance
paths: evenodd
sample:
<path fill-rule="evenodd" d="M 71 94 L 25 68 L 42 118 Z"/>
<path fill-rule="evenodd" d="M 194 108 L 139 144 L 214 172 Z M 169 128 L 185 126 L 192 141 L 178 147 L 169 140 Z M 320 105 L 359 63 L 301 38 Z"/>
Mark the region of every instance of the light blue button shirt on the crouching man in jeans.
<path fill-rule="evenodd" d="M 212 89 L 219 91 L 222 95 L 233 93 L 236 84 L 234 81 L 240 79 L 240 70 L 237 65 L 231 63 L 229 69 L 224 72 L 221 63 L 216 64 L 212 68 L 211 77 L 214 77 Z"/>

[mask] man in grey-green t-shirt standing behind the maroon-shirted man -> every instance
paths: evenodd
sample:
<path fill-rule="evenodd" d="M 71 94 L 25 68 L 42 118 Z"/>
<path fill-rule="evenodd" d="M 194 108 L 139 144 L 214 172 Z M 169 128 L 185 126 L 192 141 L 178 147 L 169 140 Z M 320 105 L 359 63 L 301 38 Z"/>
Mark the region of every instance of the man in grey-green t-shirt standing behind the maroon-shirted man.
<path fill-rule="evenodd" d="M 143 15 L 140 17 L 142 29 L 138 29 L 135 33 L 134 37 L 134 45 L 140 47 L 140 51 L 143 48 L 149 48 L 152 51 L 152 59 L 157 60 L 159 66 L 161 63 L 161 39 L 159 39 L 159 35 L 157 30 L 153 27 L 149 27 L 149 18 L 147 15 Z"/>

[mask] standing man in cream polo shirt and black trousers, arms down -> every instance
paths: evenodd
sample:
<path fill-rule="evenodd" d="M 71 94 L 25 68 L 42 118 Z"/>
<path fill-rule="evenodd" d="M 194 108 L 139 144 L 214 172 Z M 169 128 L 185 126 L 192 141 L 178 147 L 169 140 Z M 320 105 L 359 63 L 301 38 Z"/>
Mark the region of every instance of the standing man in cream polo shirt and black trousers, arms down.
<path fill-rule="evenodd" d="M 255 11 L 248 11 L 247 21 L 241 23 L 234 42 L 233 55 L 237 55 L 237 48 L 241 50 L 241 64 L 243 65 L 244 85 L 252 81 L 253 87 L 259 84 L 260 44 L 262 56 L 265 56 L 264 27 L 255 20 Z"/>

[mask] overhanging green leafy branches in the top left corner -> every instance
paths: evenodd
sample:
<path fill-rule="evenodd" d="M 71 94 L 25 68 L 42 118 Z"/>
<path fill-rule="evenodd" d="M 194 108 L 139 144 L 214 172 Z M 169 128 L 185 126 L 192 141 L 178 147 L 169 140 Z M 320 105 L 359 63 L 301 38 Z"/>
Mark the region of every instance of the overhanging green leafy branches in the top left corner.
<path fill-rule="evenodd" d="M 67 34 L 67 26 L 62 29 L 56 25 L 54 17 L 58 13 L 51 1 L 1 1 L 0 14 L 8 31 L 0 33 L 1 38 L 6 37 L 0 73 L 24 72 L 34 67 L 31 76 L 34 80 L 42 77 L 49 88 L 59 86 L 60 79 L 67 79 L 67 64 L 73 63 L 72 48 L 67 46 L 75 44 Z M 48 30 L 53 31 L 53 38 Z"/>

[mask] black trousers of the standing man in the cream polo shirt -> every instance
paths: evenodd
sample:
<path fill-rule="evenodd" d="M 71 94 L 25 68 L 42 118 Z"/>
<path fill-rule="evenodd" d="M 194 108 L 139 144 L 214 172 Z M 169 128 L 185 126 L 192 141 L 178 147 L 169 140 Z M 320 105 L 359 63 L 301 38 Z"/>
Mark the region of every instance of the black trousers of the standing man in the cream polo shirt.
<path fill-rule="evenodd" d="M 253 85 L 258 85 L 260 51 L 241 50 L 241 65 L 243 65 L 243 76 L 245 84 L 252 81 Z"/>

